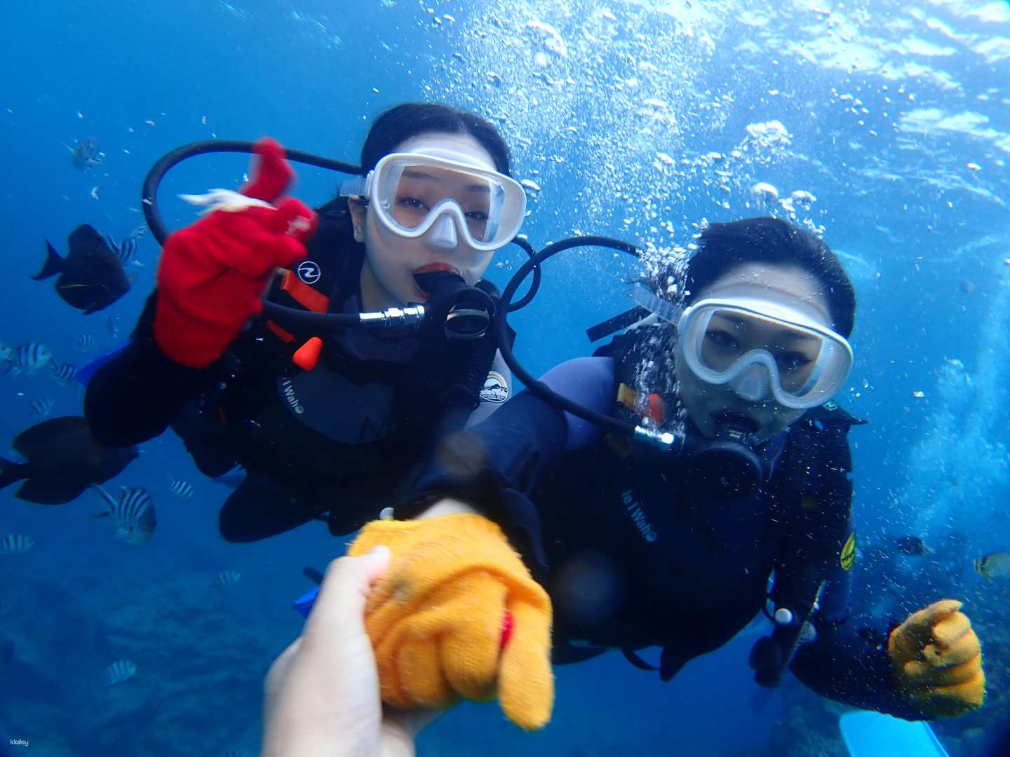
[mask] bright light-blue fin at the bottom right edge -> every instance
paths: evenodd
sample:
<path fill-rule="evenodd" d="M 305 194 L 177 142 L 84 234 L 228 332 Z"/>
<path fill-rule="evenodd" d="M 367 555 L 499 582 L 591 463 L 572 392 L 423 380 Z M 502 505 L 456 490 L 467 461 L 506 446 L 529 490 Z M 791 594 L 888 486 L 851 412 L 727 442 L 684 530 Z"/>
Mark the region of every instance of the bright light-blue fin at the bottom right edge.
<path fill-rule="evenodd" d="M 948 757 L 928 723 L 856 710 L 838 719 L 851 757 Z"/>

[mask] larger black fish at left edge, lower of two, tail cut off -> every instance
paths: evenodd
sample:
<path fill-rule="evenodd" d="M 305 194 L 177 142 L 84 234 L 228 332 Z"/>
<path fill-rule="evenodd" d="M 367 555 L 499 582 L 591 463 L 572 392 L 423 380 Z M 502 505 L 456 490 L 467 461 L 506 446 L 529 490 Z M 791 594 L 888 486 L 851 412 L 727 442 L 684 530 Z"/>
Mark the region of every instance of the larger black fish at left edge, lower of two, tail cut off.
<path fill-rule="evenodd" d="M 99 444 L 84 418 L 64 416 L 22 431 L 11 445 L 27 462 L 0 457 L 0 489 L 27 478 L 15 497 L 39 505 L 72 502 L 92 483 L 118 475 L 136 447 Z"/>

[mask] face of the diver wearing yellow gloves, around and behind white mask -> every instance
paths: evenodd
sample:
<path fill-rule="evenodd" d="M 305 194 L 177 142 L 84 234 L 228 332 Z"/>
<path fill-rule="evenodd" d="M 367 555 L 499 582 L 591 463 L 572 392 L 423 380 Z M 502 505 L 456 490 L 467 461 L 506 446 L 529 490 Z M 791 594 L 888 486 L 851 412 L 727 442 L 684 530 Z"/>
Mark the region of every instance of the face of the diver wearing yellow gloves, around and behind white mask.
<path fill-rule="evenodd" d="M 697 301 L 708 298 L 745 295 L 802 310 L 822 326 L 831 328 L 823 284 L 810 272 L 796 265 L 746 263 L 739 265 L 699 293 Z M 733 360 L 751 349 L 772 353 L 783 388 L 802 387 L 813 369 L 819 344 L 814 339 L 785 331 L 774 323 L 742 320 L 730 314 L 716 314 L 709 321 L 701 352 L 706 364 L 728 367 Z M 723 416 L 746 419 L 754 438 L 765 442 L 796 421 L 803 410 L 787 408 L 776 402 L 770 392 L 760 400 L 747 398 L 746 385 L 731 382 L 712 385 L 702 381 L 687 365 L 683 349 L 675 350 L 677 379 L 681 400 L 692 422 L 711 438 Z M 764 371 L 751 365 L 744 371 Z M 755 376 L 761 379 L 762 376 Z M 735 389 L 734 389 L 735 386 Z"/>

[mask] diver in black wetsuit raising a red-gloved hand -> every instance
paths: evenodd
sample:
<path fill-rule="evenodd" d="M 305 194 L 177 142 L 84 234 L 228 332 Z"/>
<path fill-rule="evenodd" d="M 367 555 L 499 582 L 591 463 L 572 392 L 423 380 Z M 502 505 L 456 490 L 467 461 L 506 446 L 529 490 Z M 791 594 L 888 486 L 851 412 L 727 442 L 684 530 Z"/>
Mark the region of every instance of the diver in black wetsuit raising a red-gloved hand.
<path fill-rule="evenodd" d="M 525 194 L 494 127 L 436 104 L 376 119 L 363 177 L 317 212 L 275 206 L 294 172 L 277 142 L 255 151 L 241 194 L 184 196 L 207 212 L 165 241 L 158 287 L 88 383 L 85 417 L 104 444 L 171 426 L 206 475 L 240 465 L 219 517 L 228 541 L 327 513 L 349 533 L 439 434 L 508 397 L 482 276 Z"/>

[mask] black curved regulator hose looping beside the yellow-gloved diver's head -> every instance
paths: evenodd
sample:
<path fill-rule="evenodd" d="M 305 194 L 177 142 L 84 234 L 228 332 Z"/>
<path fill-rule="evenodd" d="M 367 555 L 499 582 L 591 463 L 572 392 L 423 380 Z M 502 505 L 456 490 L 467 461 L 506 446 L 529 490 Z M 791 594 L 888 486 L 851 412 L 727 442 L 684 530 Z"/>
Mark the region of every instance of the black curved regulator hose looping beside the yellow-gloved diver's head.
<path fill-rule="evenodd" d="M 602 413 L 597 413 L 595 410 L 583 407 L 582 405 L 569 400 L 567 397 L 559 395 L 542 382 L 538 382 L 530 375 L 525 368 L 522 367 L 522 365 L 519 364 L 519 361 L 515 358 L 512 348 L 509 345 L 508 320 L 506 318 L 506 314 L 515 309 L 511 307 L 511 304 L 516 290 L 519 289 L 519 285 L 521 285 L 522 281 L 529 276 L 531 271 L 536 271 L 538 273 L 540 266 L 543 264 L 543 261 L 548 257 L 567 249 L 571 249 L 572 247 L 609 247 L 620 252 L 626 252 L 629 255 L 634 255 L 635 257 L 639 256 L 638 248 L 630 242 L 625 242 L 620 239 L 612 239 L 608 236 L 578 236 L 571 239 L 564 239 L 560 242 L 554 242 L 553 244 L 548 244 L 519 266 L 519 269 L 515 272 L 515 275 L 505 287 L 505 291 L 502 292 L 501 310 L 495 322 L 498 329 L 498 349 L 501 350 L 502 357 L 505 359 L 505 362 L 508 364 L 511 371 L 519 377 L 519 381 L 521 381 L 530 392 L 544 402 L 549 403 L 556 408 L 560 408 L 568 413 L 571 413 L 578 418 L 589 421 L 590 423 L 595 423 L 598 426 L 602 426 L 603 428 L 615 431 L 619 434 L 633 436 L 635 433 L 635 426 L 633 424 L 620 421 L 616 418 L 611 418 L 610 416 L 603 415 Z M 526 299 L 528 299 L 528 297 L 529 295 L 526 296 Z M 525 299 L 523 304 L 525 304 Z"/>

